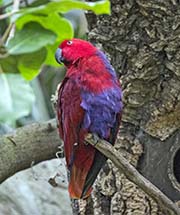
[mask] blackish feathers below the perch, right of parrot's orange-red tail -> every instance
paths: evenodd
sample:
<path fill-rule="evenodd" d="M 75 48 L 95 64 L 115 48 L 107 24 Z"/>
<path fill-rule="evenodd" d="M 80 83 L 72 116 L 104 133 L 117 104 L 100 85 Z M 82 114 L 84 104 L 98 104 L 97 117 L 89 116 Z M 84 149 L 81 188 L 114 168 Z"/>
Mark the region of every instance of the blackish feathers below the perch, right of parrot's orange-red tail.
<path fill-rule="evenodd" d="M 101 154 L 99 151 L 96 151 L 93 164 L 86 176 L 81 198 L 87 197 L 89 190 L 92 189 L 91 187 L 92 187 L 94 181 L 96 180 L 99 171 L 106 163 L 106 160 L 107 160 L 107 158 L 103 154 Z"/>

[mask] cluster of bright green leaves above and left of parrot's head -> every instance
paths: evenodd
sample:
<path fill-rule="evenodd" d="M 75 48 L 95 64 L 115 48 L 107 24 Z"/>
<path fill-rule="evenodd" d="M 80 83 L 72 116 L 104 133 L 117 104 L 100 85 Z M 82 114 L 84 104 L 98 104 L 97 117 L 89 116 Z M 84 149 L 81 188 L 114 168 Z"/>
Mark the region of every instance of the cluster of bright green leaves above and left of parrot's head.
<path fill-rule="evenodd" d="M 6 46 L 8 56 L 0 57 L 3 72 L 18 72 L 26 80 L 31 80 L 38 75 L 42 64 L 59 66 L 54 53 L 62 40 L 73 37 L 73 26 L 63 16 L 72 9 L 109 14 L 110 3 L 109 0 L 59 0 L 19 10 L 11 17 L 17 30 Z"/>

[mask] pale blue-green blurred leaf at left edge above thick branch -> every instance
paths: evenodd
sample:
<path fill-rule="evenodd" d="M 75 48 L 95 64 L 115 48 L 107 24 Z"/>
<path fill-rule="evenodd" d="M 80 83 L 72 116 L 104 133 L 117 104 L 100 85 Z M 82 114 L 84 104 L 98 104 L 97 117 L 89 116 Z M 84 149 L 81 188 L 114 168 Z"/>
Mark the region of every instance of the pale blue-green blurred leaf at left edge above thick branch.
<path fill-rule="evenodd" d="M 0 122 L 12 125 L 31 112 L 35 96 L 19 74 L 0 74 L 0 92 Z"/>

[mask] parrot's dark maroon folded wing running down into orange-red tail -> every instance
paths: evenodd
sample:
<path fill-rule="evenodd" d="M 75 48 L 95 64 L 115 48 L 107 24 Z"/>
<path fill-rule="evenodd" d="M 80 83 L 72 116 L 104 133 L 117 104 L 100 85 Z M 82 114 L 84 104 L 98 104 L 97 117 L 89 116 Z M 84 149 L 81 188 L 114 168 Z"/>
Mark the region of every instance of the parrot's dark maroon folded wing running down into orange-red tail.
<path fill-rule="evenodd" d="M 57 115 L 60 137 L 64 141 L 64 150 L 68 169 L 69 193 L 71 198 L 80 198 L 84 177 L 88 173 L 94 158 L 95 149 L 84 145 L 86 129 L 80 129 L 84 110 L 80 107 L 80 88 L 71 79 L 65 79 L 59 89 Z M 78 158 L 73 157 L 77 156 Z M 73 164 L 71 163 L 73 162 Z"/>

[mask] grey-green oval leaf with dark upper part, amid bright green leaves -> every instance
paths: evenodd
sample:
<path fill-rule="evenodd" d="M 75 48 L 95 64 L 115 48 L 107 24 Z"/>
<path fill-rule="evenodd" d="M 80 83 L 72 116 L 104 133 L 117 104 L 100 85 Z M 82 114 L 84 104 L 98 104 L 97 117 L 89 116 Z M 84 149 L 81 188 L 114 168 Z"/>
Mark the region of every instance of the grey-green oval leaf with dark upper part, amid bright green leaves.
<path fill-rule="evenodd" d="M 42 47 L 53 44 L 56 35 L 44 29 L 38 23 L 28 23 L 9 41 L 7 49 L 11 55 L 35 52 Z"/>

